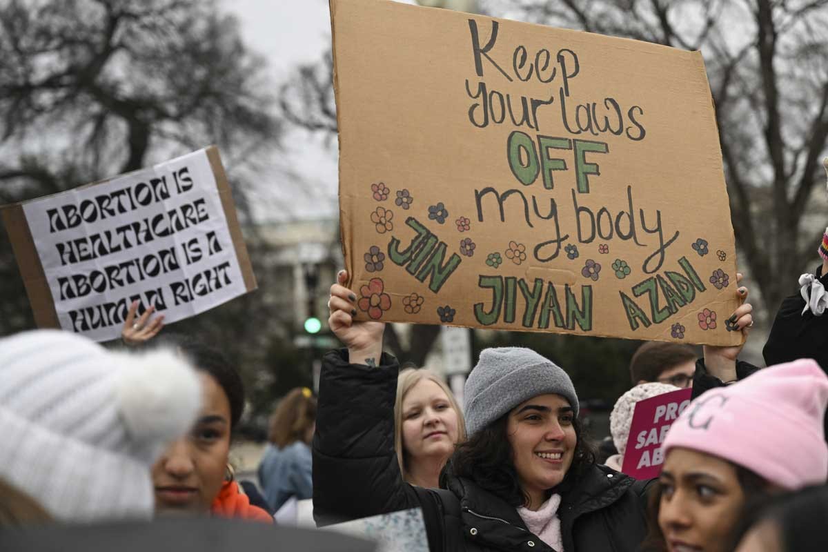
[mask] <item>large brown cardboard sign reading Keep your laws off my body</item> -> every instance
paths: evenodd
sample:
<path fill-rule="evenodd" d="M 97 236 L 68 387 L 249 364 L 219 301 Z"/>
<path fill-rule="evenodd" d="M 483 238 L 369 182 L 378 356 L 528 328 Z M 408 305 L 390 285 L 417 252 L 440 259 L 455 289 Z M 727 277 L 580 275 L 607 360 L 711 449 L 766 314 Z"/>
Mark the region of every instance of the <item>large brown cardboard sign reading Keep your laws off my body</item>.
<path fill-rule="evenodd" d="M 736 344 L 699 52 L 330 0 L 358 319 Z"/>

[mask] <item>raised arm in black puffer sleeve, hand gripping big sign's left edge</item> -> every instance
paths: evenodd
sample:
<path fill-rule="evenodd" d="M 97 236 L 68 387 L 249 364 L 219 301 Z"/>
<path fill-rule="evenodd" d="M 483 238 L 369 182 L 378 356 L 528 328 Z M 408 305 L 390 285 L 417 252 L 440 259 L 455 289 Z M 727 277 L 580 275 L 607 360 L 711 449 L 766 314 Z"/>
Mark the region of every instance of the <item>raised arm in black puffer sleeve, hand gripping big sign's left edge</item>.
<path fill-rule="evenodd" d="M 399 364 L 382 353 L 384 324 L 356 322 L 356 295 L 340 272 L 330 288 L 330 328 L 345 344 L 325 355 L 313 441 L 318 525 L 421 506 L 394 451 Z"/>

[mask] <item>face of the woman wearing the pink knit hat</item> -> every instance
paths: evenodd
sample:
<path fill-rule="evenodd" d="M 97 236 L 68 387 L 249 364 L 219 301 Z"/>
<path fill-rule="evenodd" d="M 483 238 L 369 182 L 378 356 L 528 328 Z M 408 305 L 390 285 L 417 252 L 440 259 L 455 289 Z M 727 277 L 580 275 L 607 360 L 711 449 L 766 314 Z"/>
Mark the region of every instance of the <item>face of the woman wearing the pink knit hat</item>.
<path fill-rule="evenodd" d="M 691 449 L 671 449 L 658 481 L 658 526 L 668 552 L 728 550 L 744 504 L 732 463 Z"/>

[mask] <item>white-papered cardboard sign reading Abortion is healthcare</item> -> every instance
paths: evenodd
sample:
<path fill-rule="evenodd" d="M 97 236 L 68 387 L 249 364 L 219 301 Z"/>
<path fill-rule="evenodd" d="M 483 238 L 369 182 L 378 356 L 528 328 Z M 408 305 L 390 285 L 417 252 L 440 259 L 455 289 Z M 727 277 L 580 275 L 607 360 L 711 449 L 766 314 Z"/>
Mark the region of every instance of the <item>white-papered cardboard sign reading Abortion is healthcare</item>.
<path fill-rule="evenodd" d="M 41 328 L 103 341 L 134 300 L 169 323 L 256 289 L 214 146 L 2 216 Z"/>

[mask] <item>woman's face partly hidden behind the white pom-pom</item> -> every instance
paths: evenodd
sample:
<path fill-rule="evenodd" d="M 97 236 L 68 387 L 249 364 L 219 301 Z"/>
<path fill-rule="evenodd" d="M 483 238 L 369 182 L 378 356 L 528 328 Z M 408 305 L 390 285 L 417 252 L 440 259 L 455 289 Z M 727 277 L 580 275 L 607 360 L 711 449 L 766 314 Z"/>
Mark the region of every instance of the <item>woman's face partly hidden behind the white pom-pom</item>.
<path fill-rule="evenodd" d="M 230 401 L 214 377 L 199 372 L 204 404 L 189 435 L 171 444 L 152 467 L 156 513 L 209 511 L 224 483 L 230 449 Z"/>

